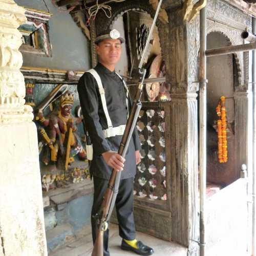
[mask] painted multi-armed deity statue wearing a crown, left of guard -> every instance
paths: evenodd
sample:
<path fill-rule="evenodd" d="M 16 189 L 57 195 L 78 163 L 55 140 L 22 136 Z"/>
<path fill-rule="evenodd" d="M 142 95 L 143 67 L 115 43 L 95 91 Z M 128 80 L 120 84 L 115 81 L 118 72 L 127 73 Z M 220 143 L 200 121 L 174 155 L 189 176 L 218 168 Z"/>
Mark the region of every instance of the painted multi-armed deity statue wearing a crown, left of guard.
<path fill-rule="evenodd" d="M 78 155 L 80 160 L 86 159 L 86 152 L 76 134 L 76 124 L 81 122 L 81 118 L 75 118 L 71 114 L 73 103 L 74 95 L 68 91 L 61 96 L 59 109 L 57 111 L 53 111 L 46 117 L 41 111 L 37 113 L 37 119 L 41 126 L 47 127 L 47 132 L 44 128 L 39 129 L 44 141 L 48 144 L 45 151 L 41 152 L 41 161 L 46 165 L 50 160 L 55 164 L 58 157 L 63 158 L 67 154 L 69 154 L 69 156 L 68 160 L 66 158 L 66 161 L 69 163 L 74 161 L 73 157 L 75 155 Z"/>

